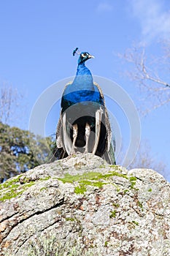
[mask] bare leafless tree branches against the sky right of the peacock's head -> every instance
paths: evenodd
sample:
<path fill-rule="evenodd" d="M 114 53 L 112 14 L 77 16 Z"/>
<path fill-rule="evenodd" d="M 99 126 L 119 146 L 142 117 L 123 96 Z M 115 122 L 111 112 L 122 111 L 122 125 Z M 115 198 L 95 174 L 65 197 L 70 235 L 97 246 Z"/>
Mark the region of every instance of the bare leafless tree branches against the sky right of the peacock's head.
<path fill-rule="evenodd" d="M 127 74 L 131 80 L 136 81 L 136 86 L 142 93 L 139 109 L 143 114 L 170 102 L 170 39 L 162 41 L 159 46 L 160 57 L 148 56 L 146 48 L 140 46 L 133 46 L 124 54 L 118 54 L 120 58 L 133 64 L 132 70 Z"/>

